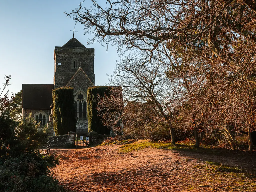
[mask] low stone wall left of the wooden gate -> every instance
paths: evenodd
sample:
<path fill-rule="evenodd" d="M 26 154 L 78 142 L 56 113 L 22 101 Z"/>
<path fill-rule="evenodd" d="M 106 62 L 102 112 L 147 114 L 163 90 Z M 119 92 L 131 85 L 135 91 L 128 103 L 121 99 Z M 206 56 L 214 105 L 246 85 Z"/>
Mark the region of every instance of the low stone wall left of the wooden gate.
<path fill-rule="evenodd" d="M 53 147 L 71 147 L 75 145 L 76 133 L 73 131 L 68 132 L 67 135 L 58 135 L 48 137 L 48 144 Z"/>

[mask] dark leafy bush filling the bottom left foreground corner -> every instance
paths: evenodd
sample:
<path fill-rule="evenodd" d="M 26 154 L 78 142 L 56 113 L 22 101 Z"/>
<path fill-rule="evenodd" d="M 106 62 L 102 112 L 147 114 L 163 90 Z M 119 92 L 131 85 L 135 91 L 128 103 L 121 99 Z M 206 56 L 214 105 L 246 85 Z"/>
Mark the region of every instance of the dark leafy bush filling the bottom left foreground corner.
<path fill-rule="evenodd" d="M 47 133 L 38 129 L 31 115 L 17 124 L 8 113 L 2 114 L 0 126 L 1 191 L 64 191 L 49 170 L 58 159 L 39 153 Z"/>

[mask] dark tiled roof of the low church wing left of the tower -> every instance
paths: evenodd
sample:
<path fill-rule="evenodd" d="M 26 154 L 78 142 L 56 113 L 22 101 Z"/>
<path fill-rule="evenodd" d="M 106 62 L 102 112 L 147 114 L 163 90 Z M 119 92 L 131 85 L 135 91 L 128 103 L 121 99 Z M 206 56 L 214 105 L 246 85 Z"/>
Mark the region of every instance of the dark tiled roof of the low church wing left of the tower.
<path fill-rule="evenodd" d="M 54 84 L 22 84 L 22 109 L 50 109 Z"/>

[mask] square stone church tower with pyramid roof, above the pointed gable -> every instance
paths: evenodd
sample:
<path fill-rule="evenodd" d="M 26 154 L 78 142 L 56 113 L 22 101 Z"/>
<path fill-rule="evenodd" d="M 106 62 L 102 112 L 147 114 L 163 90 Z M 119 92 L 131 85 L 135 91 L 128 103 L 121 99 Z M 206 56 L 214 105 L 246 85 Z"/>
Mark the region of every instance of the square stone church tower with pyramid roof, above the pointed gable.
<path fill-rule="evenodd" d="M 86 48 L 73 36 L 62 47 L 55 47 L 54 61 L 55 88 L 67 86 L 80 67 L 90 82 L 73 82 L 69 86 L 74 88 L 74 92 L 94 86 L 94 48 Z"/>

